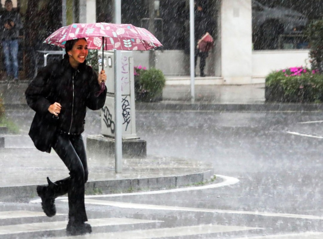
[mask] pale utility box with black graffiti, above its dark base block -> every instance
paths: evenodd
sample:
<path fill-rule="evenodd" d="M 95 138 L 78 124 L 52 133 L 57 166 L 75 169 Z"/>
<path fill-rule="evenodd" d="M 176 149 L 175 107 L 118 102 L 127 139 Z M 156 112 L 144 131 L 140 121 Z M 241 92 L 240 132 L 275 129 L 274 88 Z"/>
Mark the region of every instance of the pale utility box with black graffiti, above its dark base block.
<path fill-rule="evenodd" d="M 115 137 L 115 72 L 114 51 L 98 51 L 99 68 L 107 74 L 107 98 L 101 112 L 101 133 Z M 122 139 L 137 139 L 135 122 L 135 85 L 132 51 L 121 51 Z"/>

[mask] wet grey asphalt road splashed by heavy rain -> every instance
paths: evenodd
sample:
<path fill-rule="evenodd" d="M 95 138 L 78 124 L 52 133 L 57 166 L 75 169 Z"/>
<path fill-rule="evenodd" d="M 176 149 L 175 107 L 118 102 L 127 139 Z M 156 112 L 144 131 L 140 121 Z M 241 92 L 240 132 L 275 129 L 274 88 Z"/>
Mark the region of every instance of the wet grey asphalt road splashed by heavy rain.
<path fill-rule="evenodd" d="M 32 111 L 8 110 L 7 114 L 21 126 L 21 134 L 27 135 Z M 215 174 L 234 177 L 239 182 L 162 196 L 99 198 L 136 205 L 200 208 L 201 211 L 90 205 L 89 214 L 163 220 L 162 227 L 219 224 L 257 228 L 182 238 L 323 232 L 321 120 L 322 112 L 136 111 L 137 135 L 147 141 L 147 154 L 212 162 Z M 100 134 L 99 112 L 88 112 L 84 136 L 87 134 Z M 16 139 L 8 135 L 6 146 L 28 144 L 28 140 Z M 61 203 L 61 207 L 66 210 L 66 204 Z M 259 212 L 272 214 L 259 215 Z"/>

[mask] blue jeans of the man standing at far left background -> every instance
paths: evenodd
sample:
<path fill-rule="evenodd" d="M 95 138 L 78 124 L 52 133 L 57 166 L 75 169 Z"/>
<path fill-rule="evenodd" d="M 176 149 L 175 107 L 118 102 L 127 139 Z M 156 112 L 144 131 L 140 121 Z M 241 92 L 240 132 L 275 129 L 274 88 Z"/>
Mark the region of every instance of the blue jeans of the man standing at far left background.
<path fill-rule="evenodd" d="M 18 79 L 18 39 L 1 42 L 7 75 Z"/>

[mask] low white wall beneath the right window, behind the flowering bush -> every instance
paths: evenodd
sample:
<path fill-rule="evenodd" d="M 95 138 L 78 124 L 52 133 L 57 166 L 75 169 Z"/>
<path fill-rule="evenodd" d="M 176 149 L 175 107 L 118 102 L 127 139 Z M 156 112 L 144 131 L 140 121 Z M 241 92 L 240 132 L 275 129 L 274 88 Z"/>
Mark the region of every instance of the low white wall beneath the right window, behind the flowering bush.
<path fill-rule="evenodd" d="M 265 77 L 274 70 L 287 67 L 308 66 L 309 50 L 253 51 L 252 76 Z"/>

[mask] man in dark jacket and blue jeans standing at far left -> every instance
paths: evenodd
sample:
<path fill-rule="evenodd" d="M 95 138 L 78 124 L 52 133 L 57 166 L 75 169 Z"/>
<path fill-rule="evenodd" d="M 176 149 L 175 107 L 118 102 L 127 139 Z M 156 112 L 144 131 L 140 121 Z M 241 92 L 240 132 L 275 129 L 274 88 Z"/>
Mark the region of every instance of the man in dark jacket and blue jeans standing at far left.
<path fill-rule="evenodd" d="M 5 55 L 7 77 L 18 80 L 18 37 L 23 24 L 11 0 L 5 1 L 5 11 L 0 15 L 1 48 Z"/>

